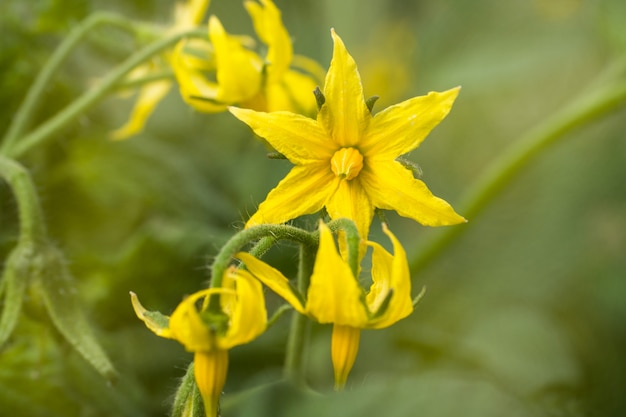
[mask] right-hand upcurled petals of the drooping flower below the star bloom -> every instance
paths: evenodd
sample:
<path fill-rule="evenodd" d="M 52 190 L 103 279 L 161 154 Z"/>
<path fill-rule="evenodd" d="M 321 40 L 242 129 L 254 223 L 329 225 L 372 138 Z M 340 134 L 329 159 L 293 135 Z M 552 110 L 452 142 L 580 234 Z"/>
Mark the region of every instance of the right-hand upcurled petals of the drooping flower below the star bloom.
<path fill-rule="evenodd" d="M 374 249 L 372 253 L 372 287 L 366 298 L 369 310 L 376 312 L 388 296 L 389 291 L 393 291 L 393 293 L 385 312 L 368 324 L 368 327 L 373 329 L 391 326 L 413 311 L 411 274 L 406 253 L 398 239 L 384 223 L 383 232 L 393 243 L 393 256 L 378 243 L 369 242 L 369 245 Z"/>

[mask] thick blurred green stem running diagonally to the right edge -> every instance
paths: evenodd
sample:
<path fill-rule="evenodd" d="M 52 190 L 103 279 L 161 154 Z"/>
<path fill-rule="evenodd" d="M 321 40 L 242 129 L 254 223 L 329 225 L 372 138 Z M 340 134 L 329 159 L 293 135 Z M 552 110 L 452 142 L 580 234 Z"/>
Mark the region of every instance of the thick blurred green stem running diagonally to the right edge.
<path fill-rule="evenodd" d="M 548 119 L 516 141 L 476 180 L 458 204 L 458 211 L 473 221 L 480 212 L 532 158 L 576 128 L 622 107 L 626 103 L 626 84 L 612 86 L 585 97 Z M 413 273 L 423 269 L 467 226 L 448 227 L 425 248 L 414 251 L 410 262 Z"/>

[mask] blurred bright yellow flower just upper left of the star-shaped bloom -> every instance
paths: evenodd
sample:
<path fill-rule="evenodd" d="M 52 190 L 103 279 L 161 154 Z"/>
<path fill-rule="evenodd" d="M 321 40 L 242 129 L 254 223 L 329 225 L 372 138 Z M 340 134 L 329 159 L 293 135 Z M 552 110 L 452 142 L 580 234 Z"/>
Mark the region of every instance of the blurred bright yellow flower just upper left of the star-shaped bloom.
<path fill-rule="evenodd" d="M 184 44 L 176 50 L 174 71 L 184 100 L 209 113 L 224 111 L 232 104 L 270 112 L 313 113 L 316 104 L 310 92 L 323 70 L 312 60 L 293 55 L 280 10 L 271 0 L 246 1 L 244 5 L 267 54 L 261 57 L 253 52 L 251 39 L 229 35 L 219 19 L 211 16 L 211 48 L 199 51 L 204 58 L 185 52 Z M 191 44 L 191 49 L 197 45 Z M 302 72 L 291 68 L 296 65 Z M 213 71 L 215 81 L 206 75 Z"/>

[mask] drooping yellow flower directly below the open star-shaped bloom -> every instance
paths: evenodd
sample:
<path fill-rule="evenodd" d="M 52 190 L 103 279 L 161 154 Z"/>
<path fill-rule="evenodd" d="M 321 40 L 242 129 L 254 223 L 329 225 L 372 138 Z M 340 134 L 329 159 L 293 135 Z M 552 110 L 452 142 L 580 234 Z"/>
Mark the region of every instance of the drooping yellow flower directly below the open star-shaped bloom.
<path fill-rule="evenodd" d="M 361 329 L 382 329 L 411 314 L 411 277 L 404 249 L 383 224 L 393 255 L 375 242 L 372 247 L 372 285 L 367 293 L 335 247 L 330 229 L 320 223 L 320 244 L 306 298 L 296 292 L 275 268 L 248 253 L 236 255 L 261 282 L 295 310 L 320 323 L 333 323 L 331 356 L 335 387 L 341 389 L 359 348 Z"/>

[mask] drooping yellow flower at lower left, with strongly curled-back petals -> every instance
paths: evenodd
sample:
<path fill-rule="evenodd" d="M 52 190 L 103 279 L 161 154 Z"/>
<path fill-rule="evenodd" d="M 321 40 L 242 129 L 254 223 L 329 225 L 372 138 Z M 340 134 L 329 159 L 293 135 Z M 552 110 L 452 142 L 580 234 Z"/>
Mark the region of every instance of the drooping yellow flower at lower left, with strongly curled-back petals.
<path fill-rule="evenodd" d="M 230 268 L 223 285 L 185 298 L 169 318 L 147 311 L 131 292 L 137 317 L 152 332 L 177 340 L 194 352 L 194 376 L 207 417 L 218 414 L 219 397 L 226 382 L 228 350 L 252 341 L 267 326 L 263 289 L 250 273 Z M 215 295 L 220 297 L 221 313 L 208 309 L 209 299 Z"/>

